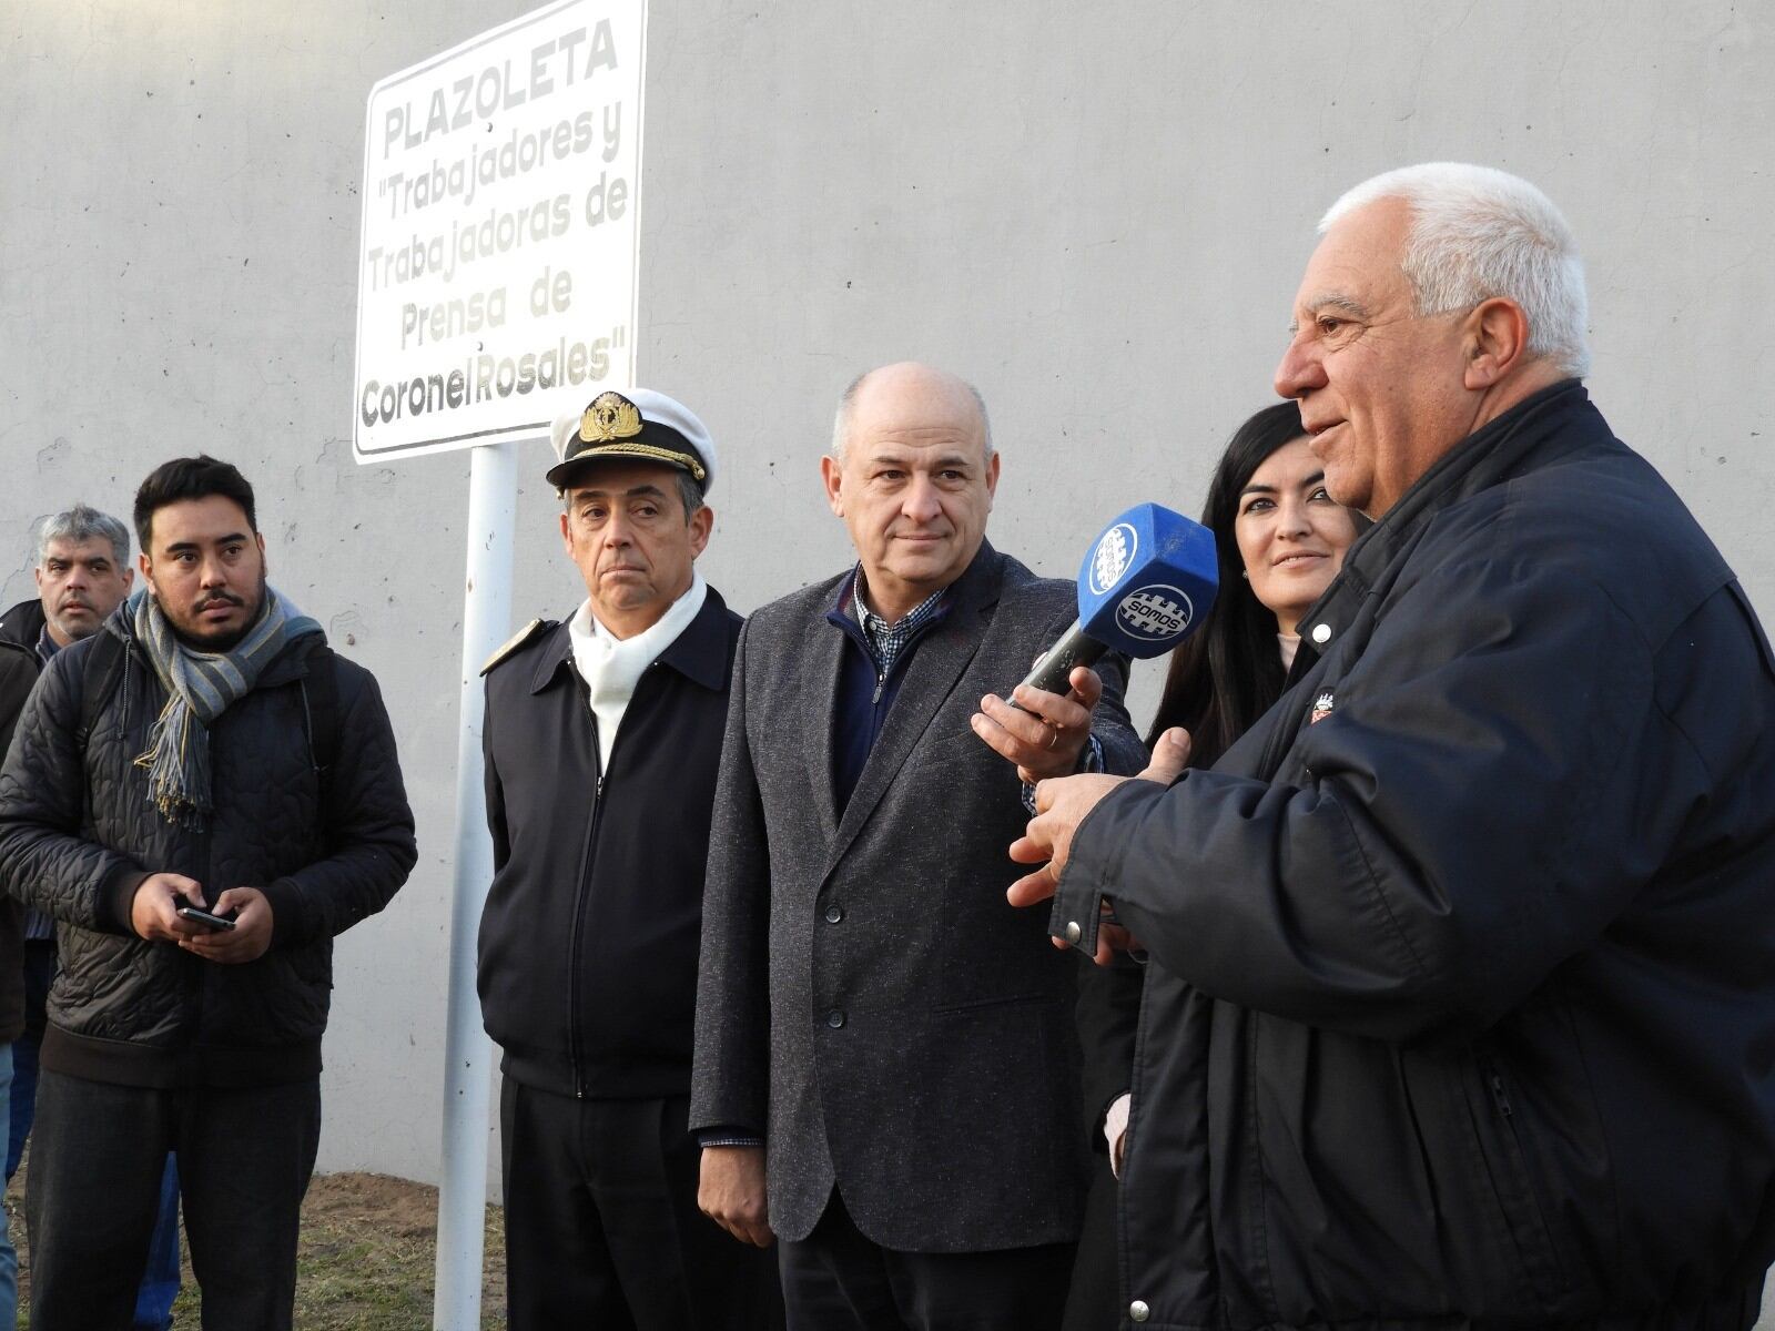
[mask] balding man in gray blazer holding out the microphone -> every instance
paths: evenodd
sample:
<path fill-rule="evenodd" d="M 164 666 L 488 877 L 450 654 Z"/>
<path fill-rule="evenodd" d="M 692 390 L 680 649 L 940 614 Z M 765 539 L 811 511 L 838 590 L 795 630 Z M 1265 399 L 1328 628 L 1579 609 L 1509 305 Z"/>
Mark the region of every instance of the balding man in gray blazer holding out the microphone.
<path fill-rule="evenodd" d="M 1058 1326 L 1083 1200 L 1076 964 L 1006 905 L 1005 847 L 1021 781 L 1141 767 L 1124 669 L 1019 690 L 1022 710 L 983 697 L 1076 591 L 985 541 L 999 458 L 953 374 L 861 376 L 822 470 L 857 563 L 761 609 L 735 662 L 699 1200 L 783 1240 L 792 1327 Z"/>

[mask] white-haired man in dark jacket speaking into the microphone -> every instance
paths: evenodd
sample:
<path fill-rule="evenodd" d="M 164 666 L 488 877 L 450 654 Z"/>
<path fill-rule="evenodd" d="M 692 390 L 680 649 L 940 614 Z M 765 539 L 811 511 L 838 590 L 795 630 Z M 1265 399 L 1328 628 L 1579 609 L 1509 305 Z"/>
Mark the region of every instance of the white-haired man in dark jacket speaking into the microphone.
<path fill-rule="evenodd" d="M 1216 767 L 1044 783 L 1014 847 L 1152 957 L 1125 1324 L 1748 1327 L 1775 657 L 1590 405 L 1539 190 L 1411 167 L 1321 232 L 1276 389 L 1376 525 Z"/>

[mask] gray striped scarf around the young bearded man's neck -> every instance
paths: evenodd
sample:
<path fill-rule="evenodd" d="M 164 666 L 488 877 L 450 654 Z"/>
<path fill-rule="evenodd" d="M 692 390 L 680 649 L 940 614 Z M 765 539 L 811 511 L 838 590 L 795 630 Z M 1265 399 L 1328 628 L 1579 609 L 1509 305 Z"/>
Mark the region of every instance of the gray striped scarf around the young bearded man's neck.
<path fill-rule="evenodd" d="M 147 752 L 135 765 L 147 770 L 147 799 L 170 823 L 202 831 L 215 809 L 209 799 L 209 728 L 231 703 L 252 692 L 259 671 L 295 639 L 321 626 L 272 587 L 247 637 L 227 651 L 199 651 L 172 632 L 160 602 L 138 591 L 131 598 L 135 637 L 167 690 L 167 705 L 147 733 Z"/>

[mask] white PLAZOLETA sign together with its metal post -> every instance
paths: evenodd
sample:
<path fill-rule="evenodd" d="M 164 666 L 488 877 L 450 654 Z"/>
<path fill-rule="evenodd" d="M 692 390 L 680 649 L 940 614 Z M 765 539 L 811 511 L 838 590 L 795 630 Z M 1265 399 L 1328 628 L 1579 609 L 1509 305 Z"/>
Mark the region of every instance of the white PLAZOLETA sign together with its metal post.
<path fill-rule="evenodd" d="M 634 385 L 644 60 L 646 0 L 556 0 L 369 94 L 351 451 L 472 449 L 433 1303 L 447 1331 L 481 1324 L 479 669 L 511 626 L 518 444 Z"/>

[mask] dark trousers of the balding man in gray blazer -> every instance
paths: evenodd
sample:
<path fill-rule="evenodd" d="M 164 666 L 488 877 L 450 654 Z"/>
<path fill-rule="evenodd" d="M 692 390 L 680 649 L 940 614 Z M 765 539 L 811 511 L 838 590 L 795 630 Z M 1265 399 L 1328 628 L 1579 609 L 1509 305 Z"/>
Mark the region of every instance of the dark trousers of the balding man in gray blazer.
<path fill-rule="evenodd" d="M 790 1331 L 1054 1331 L 1074 1244 L 898 1253 L 866 1239 L 834 1191 L 813 1233 L 777 1251 Z"/>

